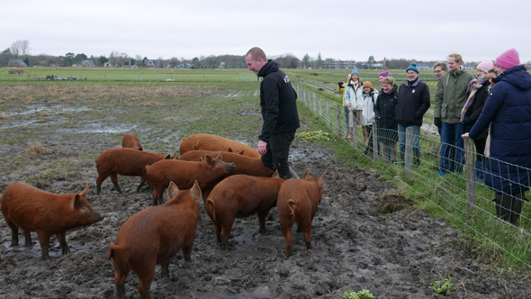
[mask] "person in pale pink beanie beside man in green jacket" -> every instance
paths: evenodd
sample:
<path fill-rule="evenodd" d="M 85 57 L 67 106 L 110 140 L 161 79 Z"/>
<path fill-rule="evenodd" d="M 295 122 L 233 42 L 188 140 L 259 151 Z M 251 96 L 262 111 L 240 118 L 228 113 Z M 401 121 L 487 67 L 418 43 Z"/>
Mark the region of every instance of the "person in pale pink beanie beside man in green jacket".
<path fill-rule="evenodd" d="M 489 76 L 488 73 L 494 67 L 491 60 L 484 60 L 477 66 L 478 74 L 470 81 L 467 88 L 468 98 L 461 110 L 461 121 L 464 123 L 464 131 L 472 129 L 474 123 L 480 117 L 483 106 L 489 97 Z M 483 168 L 485 165 L 485 145 L 487 143 L 488 130 L 482 131 L 481 135 L 473 140 L 476 147 L 475 177 L 476 183 L 481 183 L 483 178 Z"/>

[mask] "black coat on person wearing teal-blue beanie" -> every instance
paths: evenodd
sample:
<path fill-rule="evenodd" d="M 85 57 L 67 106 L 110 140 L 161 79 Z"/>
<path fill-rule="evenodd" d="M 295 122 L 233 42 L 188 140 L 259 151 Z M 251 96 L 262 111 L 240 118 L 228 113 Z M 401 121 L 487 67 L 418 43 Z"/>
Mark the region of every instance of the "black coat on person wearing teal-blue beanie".
<path fill-rule="evenodd" d="M 412 85 L 406 81 L 399 91 L 395 120 L 401 124 L 422 125 L 422 117 L 429 105 L 428 85 L 419 78 Z"/>

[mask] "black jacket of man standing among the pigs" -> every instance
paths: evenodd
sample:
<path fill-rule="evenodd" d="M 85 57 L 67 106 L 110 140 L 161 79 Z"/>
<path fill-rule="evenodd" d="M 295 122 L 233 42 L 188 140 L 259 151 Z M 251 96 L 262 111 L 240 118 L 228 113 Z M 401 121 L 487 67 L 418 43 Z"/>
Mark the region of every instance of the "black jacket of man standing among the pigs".
<path fill-rule="evenodd" d="M 269 142 L 272 134 L 295 131 L 301 126 L 297 113 L 297 93 L 290 78 L 278 68 L 274 60 L 267 60 L 258 72 L 258 77 L 264 77 L 260 83 L 260 107 L 264 124 L 258 139 Z"/>

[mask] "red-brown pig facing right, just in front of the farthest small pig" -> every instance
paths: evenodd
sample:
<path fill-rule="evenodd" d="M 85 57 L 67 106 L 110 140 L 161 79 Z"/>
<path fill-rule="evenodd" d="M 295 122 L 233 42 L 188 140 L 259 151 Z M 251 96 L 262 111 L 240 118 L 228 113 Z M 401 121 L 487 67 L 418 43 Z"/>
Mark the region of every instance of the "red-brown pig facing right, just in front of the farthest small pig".
<path fill-rule="evenodd" d="M 107 177 L 111 177 L 112 185 L 121 193 L 120 186 L 118 186 L 118 175 L 140 177 L 140 184 L 137 187 L 137 192 L 139 192 L 140 187 L 144 186 L 146 182 L 147 165 L 162 159 L 174 158 L 175 154 L 173 156 L 164 156 L 138 149 L 107 149 L 95 160 L 98 170 L 96 193 L 100 194 L 102 183 Z"/>

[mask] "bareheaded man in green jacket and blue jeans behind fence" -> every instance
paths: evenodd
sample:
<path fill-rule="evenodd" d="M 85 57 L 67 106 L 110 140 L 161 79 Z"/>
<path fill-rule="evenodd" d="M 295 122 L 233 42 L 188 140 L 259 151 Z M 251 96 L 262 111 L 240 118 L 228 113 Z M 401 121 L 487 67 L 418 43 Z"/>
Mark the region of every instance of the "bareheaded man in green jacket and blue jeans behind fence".
<path fill-rule="evenodd" d="M 464 123 L 461 122 L 461 111 L 468 97 L 466 88 L 474 77 L 462 67 L 462 64 L 461 55 L 450 54 L 448 56 L 450 71 L 443 75 L 437 84 L 433 115 L 434 122 L 442 124 L 439 177 L 451 171 L 452 148 L 455 149 L 455 171 L 463 173 L 464 141 L 461 135 L 464 134 Z"/>

